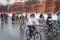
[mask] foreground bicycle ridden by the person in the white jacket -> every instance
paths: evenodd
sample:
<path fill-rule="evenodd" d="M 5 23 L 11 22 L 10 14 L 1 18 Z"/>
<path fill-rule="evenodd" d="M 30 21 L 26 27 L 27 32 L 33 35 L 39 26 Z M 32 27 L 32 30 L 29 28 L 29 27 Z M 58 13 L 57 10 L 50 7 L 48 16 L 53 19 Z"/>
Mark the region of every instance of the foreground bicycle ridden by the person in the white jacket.
<path fill-rule="evenodd" d="M 30 29 L 27 29 L 27 31 L 26 31 L 26 38 L 27 38 L 27 40 L 30 40 L 32 37 L 34 38 L 34 40 L 42 40 L 42 36 L 37 31 L 36 28 L 32 31 L 31 37 L 29 36 L 29 32 L 30 32 Z"/>

